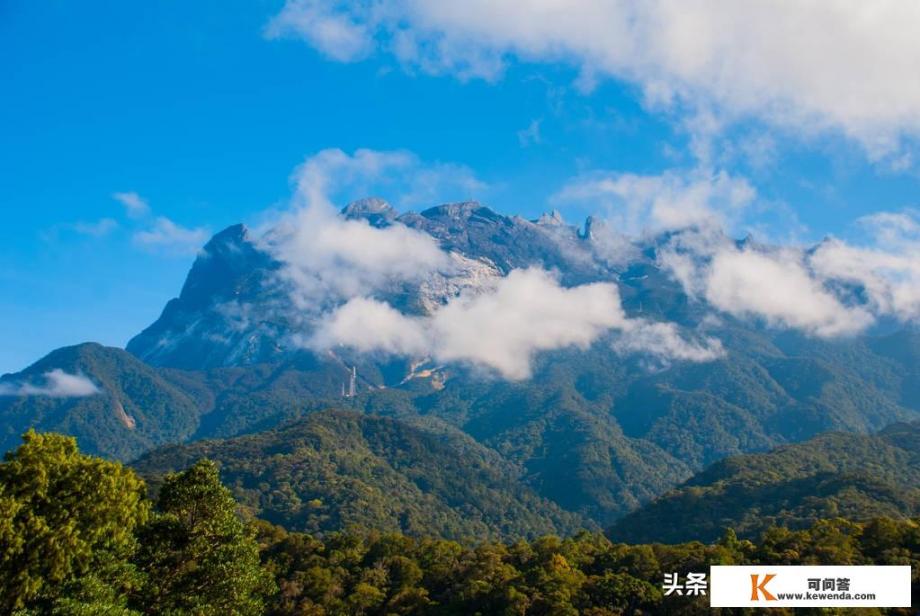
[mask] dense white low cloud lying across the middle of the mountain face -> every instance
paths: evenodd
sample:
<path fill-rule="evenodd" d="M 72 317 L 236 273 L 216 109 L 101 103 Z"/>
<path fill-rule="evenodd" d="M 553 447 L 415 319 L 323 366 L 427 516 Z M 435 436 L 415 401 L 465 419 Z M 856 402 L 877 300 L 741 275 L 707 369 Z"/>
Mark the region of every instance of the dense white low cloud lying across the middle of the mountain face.
<path fill-rule="evenodd" d="M 310 344 L 466 362 L 519 380 L 530 376 L 536 353 L 587 348 L 611 330 L 621 332 L 615 348 L 624 353 L 687 361 L 722 353 L 712 339 L 686 342 L 673 324 L 627 318 L 614 284 L 565 288 L 539 269 L 514 270 L 490 289 L 462 293 L 426 317 L 355 298 L 326 315 Z"/>

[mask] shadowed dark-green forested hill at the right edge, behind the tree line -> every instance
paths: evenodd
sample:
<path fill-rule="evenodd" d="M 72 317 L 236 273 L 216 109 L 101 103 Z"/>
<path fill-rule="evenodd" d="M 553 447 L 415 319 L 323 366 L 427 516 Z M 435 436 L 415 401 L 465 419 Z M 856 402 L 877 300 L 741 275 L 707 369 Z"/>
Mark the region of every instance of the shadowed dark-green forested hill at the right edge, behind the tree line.
<path fill-rule="evenodd" d="M 610 530 L 618 541 L 754 537 L 772 524 L 920 515 L 920 423 L 875 435 L 830 433 L 717 462 Z"/>

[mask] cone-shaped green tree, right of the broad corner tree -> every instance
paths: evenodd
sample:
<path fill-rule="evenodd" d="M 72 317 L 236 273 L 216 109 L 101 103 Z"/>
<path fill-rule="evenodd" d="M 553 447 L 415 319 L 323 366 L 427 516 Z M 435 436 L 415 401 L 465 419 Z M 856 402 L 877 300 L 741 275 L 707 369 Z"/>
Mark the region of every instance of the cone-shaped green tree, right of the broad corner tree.
<path fill-rule="evenodd" d="M 260 614 L 274 583 L 214 463 L 168 475 L 157 509 L 140 531 L 148 584 L 138 605 L 151 614 Z"/>

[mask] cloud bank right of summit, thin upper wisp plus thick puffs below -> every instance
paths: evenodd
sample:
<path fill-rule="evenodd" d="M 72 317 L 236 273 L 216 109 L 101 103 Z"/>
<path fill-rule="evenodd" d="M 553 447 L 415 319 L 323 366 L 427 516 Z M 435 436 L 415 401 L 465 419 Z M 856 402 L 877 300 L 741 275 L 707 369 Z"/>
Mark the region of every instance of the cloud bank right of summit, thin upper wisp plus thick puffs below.
<path fill-rule="evenodd" d="M 599 257 L 636 258 L 636 241 L 660 244 L 659 265 L 709 307 L 775 328 L 831 338 L 868 330 L 880 319 L 920 319 L 920 214 L 878 212 L 858 219 L 856 241 L 828 238 L 814 247 L 774 237 L 772 245 L 729 239 L 724 229 L 770 236 L 756 190 L 744 178 L 703 168 L 660 175 L 598 171 L 569 181 L 551 199 L 603 211 L 592 228 Z M 783 231 L 798 221 L 771 204 Z M 787 236 L 788 237 L 788 236 Z"/>

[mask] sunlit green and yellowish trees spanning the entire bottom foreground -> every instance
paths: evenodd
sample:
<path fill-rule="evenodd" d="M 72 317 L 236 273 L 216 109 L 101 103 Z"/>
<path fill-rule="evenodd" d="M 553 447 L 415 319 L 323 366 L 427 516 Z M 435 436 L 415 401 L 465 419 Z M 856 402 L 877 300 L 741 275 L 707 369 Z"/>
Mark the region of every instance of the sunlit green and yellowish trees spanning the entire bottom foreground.
<path fill-rule="evenodd" d="M 0 609 L 39 614 L 406 616 L 709 613 L 664 596 L 665 573 L 715 564 L 905 564 L 920 603 L 920 520 L 817 520 L 754 541 L 629 545 L 599 533 L 454 542 L 363 527 L 315 536 L 236 510 L 214 464 L 155 500 L 72 438 L 29 433 L 0 463 Z M 242 517 L 240 516 L 242 513 Z M 734 613 L 726 611 L 725 613 Z M 792 613 L 771 610 L 771 613 Z M 866 614 L 907 614 L 871 610 Z"/>

